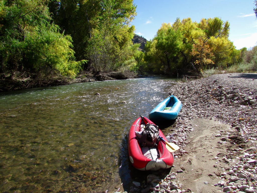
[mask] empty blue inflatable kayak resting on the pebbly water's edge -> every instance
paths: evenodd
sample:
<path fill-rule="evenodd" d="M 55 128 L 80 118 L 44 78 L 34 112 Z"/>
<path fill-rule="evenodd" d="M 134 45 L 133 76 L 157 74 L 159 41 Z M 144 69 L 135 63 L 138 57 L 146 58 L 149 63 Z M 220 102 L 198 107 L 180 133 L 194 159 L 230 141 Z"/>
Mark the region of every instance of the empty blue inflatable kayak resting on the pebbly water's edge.
<path fill-rule="evenodd" d="M 171 95 L 160 102 L 150 113 L 149 119 L 153 122 L 175 120 L 182 108 L 178 98 Z"/>

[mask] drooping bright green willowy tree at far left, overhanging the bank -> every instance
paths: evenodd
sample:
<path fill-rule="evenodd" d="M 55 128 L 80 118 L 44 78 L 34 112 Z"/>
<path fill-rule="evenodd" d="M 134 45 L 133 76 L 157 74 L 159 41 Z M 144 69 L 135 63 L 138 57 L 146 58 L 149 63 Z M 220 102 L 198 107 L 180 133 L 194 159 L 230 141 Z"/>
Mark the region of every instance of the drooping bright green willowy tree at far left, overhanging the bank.
<path fill-rule="evenodd" d="M 0 71 L 51 72 L 74 76 L 76 62 L 70 36 L 59 33 L 43 0 L 1 1 Z"/>

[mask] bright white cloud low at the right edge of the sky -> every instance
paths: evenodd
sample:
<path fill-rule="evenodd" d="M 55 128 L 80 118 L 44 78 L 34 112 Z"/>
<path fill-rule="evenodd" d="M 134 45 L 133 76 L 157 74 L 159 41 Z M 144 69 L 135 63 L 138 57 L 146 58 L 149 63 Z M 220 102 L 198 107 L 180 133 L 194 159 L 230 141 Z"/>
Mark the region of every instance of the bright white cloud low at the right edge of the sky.
<path fill-rule="evenodd" d="M 234 43 L 234 46 L 236 46 L 236 49 L 241 49 L 243 47 L 251 48 L 256 46 L 257 43 L 257 33 L 252 33 L 250 36 L 247 36 L 245 38 L 240 38 L 236 40 L 231 40 Z"/>

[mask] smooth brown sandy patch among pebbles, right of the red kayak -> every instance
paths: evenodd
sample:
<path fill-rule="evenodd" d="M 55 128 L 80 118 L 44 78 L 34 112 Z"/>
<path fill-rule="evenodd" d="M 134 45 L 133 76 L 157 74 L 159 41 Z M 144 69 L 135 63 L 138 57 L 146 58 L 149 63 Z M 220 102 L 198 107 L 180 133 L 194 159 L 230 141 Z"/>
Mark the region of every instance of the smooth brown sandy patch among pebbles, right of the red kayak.
<path fill-rule="evenodd" d="M 183 184 L 185 190 L 199 193 L 222 191 L 223 188 L 213 185 L 220 180 L 219 176 L 224 172 L 224 168 L 228 167 L 229 163 L 223 160 L 223 155 L 227 154 L 233 145 L 218 144 L 221 137 L 215 137 L 215 135 L 233 130 L 227 124 L 202 118 L 193 119 L 189 123 L 197 126 L 194 126 L 194 131 L 188 133 L 188 144 L 184 148 L 188 153 L 175 159 L 171 172 L 184 170 L 183 173 L 177 174 L 177 179 Z"/>

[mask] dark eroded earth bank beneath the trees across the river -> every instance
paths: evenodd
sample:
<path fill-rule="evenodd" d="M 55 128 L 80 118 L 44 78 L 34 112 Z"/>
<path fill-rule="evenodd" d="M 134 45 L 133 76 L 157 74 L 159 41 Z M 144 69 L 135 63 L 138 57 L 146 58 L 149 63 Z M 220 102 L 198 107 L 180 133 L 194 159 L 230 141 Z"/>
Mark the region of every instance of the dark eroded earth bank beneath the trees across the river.
<path fill-rule="evenodd" d="M 134 72 L 109 72 L 109 73 L 93 73 L 83 71 L 76 75 L 75 78 L 61 76 L 57 74 L 20 74 L 17 73 L 12 79 L 10 77 L 1 77 L 0 92 L 8 92 L 13 90 L 29 89 L 42 86 L 59 86 L 78 82 L 94 82 L 106 80 L 123 80 L 135 78 Z"/>

